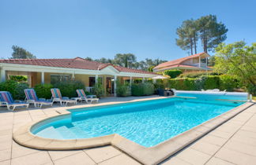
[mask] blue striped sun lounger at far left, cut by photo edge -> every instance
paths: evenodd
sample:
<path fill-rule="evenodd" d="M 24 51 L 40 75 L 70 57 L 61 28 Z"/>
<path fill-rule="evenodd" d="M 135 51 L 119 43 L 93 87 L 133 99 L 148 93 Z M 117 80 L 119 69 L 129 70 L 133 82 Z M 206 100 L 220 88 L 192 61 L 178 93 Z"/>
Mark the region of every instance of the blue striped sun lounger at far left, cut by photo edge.
<path fill-rule="evenodd" d="M 12 95 L 8 91 L 0 92 L 0 105 L 7 106 L 8 110 L 13 110 L 16 107 L 25 107 L 28 108 L 29 104 L 22 101 L 14 101 Z M 11 108 L 13 107 L 13 109 Z"/>

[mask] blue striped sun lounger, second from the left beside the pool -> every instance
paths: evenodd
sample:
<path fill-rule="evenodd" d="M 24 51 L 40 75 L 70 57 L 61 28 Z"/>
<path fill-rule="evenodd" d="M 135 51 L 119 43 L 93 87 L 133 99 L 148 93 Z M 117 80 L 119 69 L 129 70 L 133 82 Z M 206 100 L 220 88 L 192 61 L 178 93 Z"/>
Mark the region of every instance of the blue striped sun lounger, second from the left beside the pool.
<path fill-rule="evenodd" d="M 29 104 L 34 104 L 35 107 L 42 108 L 43 105 L 52 106 L 53 104 L 52 101 L 46 101 L 45 98 L 38 98 L 34 89 L 25 89 L 24 93 L 26 95 L 25 101 Z"/>

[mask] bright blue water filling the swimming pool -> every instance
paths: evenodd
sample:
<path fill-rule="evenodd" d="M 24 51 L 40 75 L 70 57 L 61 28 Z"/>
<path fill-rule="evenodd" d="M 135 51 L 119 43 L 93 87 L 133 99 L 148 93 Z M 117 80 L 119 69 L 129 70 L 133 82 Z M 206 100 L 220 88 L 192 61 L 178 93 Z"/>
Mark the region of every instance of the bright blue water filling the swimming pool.
<path fill-rule="evenodd" d="M 32 133 L 56 139 L 119 134 L 137 144 L 152 147 L 241 104 L 168 98 L 73 109 L 71 117 L 40 123 L 32 128 Z"/>

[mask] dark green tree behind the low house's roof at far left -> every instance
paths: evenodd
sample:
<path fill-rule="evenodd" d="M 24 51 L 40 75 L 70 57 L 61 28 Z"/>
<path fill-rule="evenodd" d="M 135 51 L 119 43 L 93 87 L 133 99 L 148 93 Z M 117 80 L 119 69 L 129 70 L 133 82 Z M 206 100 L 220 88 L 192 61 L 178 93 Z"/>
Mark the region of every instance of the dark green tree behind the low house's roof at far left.
<path fill-rule="evenodd" d="M 12 59 L 36 59 L 36 56 L 19 46 L 12 46 L 12 49 Z"/>

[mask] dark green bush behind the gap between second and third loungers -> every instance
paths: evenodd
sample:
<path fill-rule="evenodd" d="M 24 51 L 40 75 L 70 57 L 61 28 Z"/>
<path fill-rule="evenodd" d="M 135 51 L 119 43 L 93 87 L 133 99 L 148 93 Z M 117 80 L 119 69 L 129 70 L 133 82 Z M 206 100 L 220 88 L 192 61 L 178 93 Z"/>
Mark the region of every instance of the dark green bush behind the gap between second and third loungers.
<path fill-rule="evenodd" d="M 46 98 L 50 99 L 51 98 L 51 88 L 54 86 L 51 84 L 37 84 L 34 87 L 34 90 L 36 91 L 36 95 L 39 98 Z"/>

